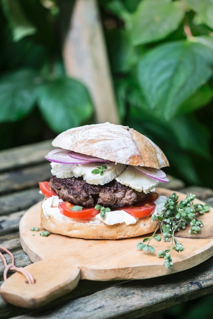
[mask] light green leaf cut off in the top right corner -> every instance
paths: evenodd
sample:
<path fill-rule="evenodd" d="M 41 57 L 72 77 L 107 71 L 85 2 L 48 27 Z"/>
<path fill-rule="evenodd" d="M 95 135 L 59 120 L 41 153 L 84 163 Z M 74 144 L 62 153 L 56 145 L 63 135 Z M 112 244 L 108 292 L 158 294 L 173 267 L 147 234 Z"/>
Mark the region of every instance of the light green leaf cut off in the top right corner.
<path fill-rule="evenodd" d="M 194 22 L 206 24 L 213 29 L 213 2 L 212 0 L 184 0 L 187 7 L 197 13 Z"/>

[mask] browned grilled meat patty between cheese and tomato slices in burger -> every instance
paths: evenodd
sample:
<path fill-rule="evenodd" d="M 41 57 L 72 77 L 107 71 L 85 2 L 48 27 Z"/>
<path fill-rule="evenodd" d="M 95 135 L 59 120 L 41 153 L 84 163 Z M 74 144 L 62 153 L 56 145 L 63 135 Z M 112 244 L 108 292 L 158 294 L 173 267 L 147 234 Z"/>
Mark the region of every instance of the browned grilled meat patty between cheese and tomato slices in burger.
<path fill-rule="evenodd" d="M 105 185 L 91 185 L 83 177 L 57 178 L 52 176 L 49 186 L 64 202 L 81 206 L 96 204 L 118 208 L 144 201 L 148 195 L 137 192 L 128 186 L 113 180 Z"/>

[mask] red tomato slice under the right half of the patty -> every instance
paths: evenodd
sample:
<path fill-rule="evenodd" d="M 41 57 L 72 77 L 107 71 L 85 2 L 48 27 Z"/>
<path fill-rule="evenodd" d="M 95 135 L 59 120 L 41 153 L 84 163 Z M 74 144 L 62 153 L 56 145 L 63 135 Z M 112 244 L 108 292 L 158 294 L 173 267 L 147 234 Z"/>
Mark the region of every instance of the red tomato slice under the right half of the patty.
<path fill-rule="evenodd" d="M 143 203 L 140 206 L 138 204 L 137 206 L 124 206 L 117 208 L 117 210 L 123 210 L 136 218 L 141 218 L 150 215 L 154 211 L 155 206 L 155 203 Z"/>

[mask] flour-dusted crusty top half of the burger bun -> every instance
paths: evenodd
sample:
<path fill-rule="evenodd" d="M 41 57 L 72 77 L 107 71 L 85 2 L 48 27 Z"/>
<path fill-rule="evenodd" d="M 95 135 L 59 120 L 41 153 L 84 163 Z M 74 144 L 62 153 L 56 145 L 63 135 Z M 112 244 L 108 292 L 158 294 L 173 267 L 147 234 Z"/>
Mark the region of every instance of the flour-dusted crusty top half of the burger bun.
<path fill-rule="evenodd" d="M 69 129 L 55 137 L 52 145 L 126 165 L 169 166 L 165 154 L 148 137 L 109 122 Z"/>

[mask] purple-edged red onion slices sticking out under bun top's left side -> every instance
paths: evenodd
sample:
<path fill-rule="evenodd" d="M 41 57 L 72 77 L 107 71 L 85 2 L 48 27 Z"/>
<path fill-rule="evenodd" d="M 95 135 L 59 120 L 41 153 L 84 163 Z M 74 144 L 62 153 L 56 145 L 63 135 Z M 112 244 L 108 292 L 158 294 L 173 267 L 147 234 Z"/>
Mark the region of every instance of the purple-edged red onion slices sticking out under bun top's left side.
<path fill-rule="evenodd" d="M 71 155 L 70 155 L 71 152 Z M 73 154 L 74 153 L 74 156 Z M 92 157 L 88 155 L 83 155 L 75 153 L 69 150 L 64 150 L 62 148 L 55 148 L 55 150 L 50 151 L 45 159 L 50 162 L 59 163 L 59 164 L 89 164 L 94 162 L 105 162 L 108 163 L 105 159 L 99 159 L 97 157 Z"/>

